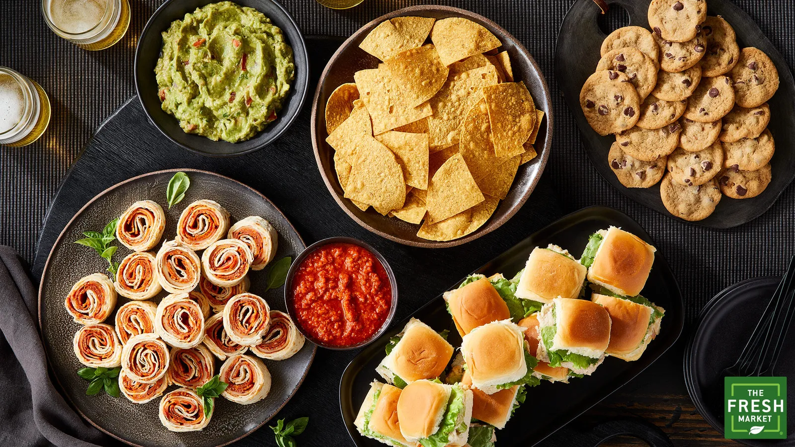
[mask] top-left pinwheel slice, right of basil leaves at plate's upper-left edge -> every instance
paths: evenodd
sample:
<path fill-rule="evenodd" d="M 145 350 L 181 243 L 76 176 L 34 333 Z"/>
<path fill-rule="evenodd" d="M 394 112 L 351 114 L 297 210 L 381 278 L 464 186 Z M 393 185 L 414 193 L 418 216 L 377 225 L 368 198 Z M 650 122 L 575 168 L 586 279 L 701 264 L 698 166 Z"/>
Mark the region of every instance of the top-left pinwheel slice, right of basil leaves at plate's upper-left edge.
<path fill-rule="evenodd" d="M 163 230 L 163 208 L 152 200 L 141 200 L 118 218 L 116 239 L 132 251 L 149 251 L 160 242 Z"/>

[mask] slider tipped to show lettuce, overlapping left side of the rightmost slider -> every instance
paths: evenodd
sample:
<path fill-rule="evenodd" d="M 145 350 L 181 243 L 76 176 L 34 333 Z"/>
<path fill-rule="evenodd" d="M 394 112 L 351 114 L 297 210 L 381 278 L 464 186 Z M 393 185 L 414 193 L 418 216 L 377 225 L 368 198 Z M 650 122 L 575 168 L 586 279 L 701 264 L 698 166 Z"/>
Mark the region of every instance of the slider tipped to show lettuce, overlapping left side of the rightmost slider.
<path fill-rule="evenodd" d="M 538 360 L 591 375 L 610 343 L 610 315 L 592 301 L 555 298 L 538 314 Z"/>

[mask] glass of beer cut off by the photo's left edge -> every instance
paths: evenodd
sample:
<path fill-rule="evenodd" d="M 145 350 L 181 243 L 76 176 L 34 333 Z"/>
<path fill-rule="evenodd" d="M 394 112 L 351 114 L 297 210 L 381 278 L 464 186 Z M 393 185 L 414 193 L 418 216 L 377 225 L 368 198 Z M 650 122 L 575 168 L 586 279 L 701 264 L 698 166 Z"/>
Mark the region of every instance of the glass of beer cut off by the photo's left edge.
<path fill-rule="evenodd" d="M 45 133 L 50 105 L 45 91 L 10 68 L 0 67 L 0 145 L 27 146 Z"/>

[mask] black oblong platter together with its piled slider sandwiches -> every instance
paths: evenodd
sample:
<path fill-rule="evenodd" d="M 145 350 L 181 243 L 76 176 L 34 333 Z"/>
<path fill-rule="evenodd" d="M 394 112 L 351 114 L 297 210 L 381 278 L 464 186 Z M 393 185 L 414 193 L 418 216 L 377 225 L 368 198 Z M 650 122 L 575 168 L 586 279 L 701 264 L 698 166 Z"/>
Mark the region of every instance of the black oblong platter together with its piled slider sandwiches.
<path fill-rule="evenodd" d="M 355 445 L 534 445 L 657 360 L 684 314 L 646 231 L 584 208 L 452 285 L 357 356 Z"/>

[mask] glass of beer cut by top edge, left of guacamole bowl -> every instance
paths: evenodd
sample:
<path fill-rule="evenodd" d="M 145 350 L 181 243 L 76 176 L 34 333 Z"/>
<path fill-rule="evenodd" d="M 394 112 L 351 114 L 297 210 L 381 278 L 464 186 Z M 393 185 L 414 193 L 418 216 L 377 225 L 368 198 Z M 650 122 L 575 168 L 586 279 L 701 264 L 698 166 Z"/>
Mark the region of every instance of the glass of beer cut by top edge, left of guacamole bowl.
<path fill-rule="evenodd" d="M 41 0 L 47 25 L 83 49 L 107 49 L 130 26 L 127 0 Z"/>

